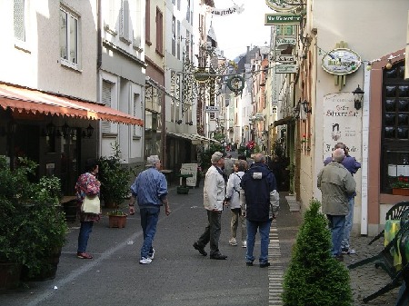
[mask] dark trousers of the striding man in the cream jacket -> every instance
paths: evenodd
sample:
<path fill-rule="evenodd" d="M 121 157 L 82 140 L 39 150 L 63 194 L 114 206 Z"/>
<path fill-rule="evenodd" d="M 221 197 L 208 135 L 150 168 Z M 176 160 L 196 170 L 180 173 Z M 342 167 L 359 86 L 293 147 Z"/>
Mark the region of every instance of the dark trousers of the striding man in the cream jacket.
<path fill-rule="evenodd" d="M 219 251 L 219 239 L 220 232 L 222 232 L 222 212 L 207 211 L 207 226 L 205 232 L 199 237 L 197 244 L 200 247 L 210 242 L 210 255 L 220 255 Z"/>

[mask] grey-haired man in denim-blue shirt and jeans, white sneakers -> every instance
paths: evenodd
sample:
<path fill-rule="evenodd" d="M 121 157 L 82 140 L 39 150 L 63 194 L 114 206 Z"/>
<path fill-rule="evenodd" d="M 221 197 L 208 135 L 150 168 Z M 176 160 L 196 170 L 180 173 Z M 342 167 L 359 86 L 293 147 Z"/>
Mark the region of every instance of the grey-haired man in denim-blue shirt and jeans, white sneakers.
<path fill-rule="evenodd" d="M 141 214 L 144 242 L 141 247 L 140 264 L 151 263 L 155 257 L 153 242 L 161 206 L 165 205 L 166 216 L 171 212 L 167 201 L 165 174 L 159 172 L 161 169 L 159 157 L 157 155 L 149 156 L 146 159 L 146 167 L 145 171 L 136 176 L 135 183 L 131 186 L 132 196 L 129 202 L 129 213 L 135 213 L 135 200 L 137 200 Z"/>

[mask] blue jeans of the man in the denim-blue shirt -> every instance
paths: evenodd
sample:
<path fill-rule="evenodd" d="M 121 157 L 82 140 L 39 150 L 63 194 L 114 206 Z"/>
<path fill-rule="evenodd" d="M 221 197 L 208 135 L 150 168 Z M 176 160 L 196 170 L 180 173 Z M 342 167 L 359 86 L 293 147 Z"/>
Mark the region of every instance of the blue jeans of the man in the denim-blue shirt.
<path fill-rule="evenodd" d="M 147 258 L 148 255 L 152 255 L 154 248 L 152 243 L 154 242 L 156 225 L 159 220 L 160 207 L 148 207 L 144 208 L 139 206 L 141 213 L 141 227 L 144 232 L 144 243 L 141 248 L 141 258 Z"/>

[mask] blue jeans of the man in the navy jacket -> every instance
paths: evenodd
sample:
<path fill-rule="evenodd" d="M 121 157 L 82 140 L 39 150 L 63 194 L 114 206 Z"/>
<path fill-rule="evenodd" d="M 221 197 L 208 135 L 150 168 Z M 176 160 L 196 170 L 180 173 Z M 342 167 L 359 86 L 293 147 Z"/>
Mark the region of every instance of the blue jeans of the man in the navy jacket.
<path fill-rule="evenodd" d="M 271 220 L 266 222 L 252 222 L 246 220 L 247 224 L 247 252 L 245 253 L 245 262 L 254 262 L 254 242 L 257 229 L 260 231 L 260 263 L 268 262 L 268 244 L 270 242 L 270 226 Z"/>

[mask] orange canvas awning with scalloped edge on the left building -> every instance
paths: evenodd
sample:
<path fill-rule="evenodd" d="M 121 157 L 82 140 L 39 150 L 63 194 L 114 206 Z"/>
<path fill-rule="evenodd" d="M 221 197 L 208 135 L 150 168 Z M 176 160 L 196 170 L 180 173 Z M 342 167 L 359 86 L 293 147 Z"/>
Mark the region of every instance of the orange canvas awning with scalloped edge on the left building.
<path fill-rule="evenodd" d="M 142 119 L 89 101 L 62 94 L 0 84 L 0 107 L 26 114 L 51 114 L 90 120 L 106 120 L 115 123 L 144 125 Z"/>

